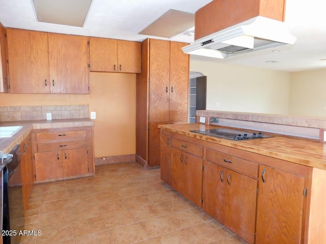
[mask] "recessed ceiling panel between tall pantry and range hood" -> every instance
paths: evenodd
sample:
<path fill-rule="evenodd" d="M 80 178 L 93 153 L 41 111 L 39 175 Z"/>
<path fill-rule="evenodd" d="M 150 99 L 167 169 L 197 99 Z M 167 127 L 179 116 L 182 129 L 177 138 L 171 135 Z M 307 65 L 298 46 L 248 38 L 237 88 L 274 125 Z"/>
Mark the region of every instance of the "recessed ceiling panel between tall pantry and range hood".
<path fill-rule="evenodd" d="M 172 38 L 195 25 L 195 14 L 170 9 L 139 34 Z"/>

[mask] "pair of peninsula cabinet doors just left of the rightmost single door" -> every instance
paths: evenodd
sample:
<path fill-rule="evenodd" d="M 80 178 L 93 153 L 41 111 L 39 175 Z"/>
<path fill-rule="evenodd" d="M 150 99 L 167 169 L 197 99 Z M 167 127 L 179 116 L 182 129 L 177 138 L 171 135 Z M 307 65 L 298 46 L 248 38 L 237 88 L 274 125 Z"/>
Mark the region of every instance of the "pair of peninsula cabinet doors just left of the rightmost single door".
<path fill-rule="evenodd" d="M 256 196 L 257 179 L 204 161 L 203 210 L 249 243 L 255 241 Z"/>

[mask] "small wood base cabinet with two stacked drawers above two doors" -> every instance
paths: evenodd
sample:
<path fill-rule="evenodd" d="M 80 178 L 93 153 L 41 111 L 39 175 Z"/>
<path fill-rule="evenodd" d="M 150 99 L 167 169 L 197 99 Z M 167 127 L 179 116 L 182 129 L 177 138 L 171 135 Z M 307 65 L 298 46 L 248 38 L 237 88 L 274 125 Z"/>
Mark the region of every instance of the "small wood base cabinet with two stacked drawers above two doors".
<path fill-rule="evenodd" d="M 36 181 L 94 174 L 92 127 L 34 130 Z"/>

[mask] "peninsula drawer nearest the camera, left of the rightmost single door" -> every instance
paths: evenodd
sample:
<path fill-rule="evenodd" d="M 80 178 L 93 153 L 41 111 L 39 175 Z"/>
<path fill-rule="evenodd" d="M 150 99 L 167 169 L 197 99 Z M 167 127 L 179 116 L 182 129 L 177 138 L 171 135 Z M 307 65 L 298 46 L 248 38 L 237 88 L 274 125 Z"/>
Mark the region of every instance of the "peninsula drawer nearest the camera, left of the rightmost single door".
<path fill-rule="evenodd" d="M 206 159 L 236 172 L 243 173 L 254 178 L 258 177 L 258 164 L 256 163 L 208 148 L 206 149 Z"/>

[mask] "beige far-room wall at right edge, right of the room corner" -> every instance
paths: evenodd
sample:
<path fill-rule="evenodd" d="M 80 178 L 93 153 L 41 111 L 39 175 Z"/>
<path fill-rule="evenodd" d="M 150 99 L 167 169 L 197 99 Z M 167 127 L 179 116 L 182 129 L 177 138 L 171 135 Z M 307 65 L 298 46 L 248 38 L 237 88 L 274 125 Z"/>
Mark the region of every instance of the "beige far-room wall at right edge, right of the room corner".
<path fill-rule="evenodd" d="M 289 114 L 326 117 L 326 69 L 291 73 Z"/>

